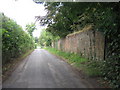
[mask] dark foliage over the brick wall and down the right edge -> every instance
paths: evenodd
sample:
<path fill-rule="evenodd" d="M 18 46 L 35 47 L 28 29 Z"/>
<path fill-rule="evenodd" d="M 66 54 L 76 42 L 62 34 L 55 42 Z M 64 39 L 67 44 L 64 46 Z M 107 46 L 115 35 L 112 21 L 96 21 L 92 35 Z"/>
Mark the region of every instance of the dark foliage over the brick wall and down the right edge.
<path fill-rule="evenodd" d="M 62 38 L 88 24 L 104 33 L 105 60 L 100 65 L 101 72 L 114 87 L 120 87 L 119 3 L 47 2 L 44 5 L 48 13 L 40 17 L 40 23 L 47 24 L 47 31 L 53 35 Z"/>

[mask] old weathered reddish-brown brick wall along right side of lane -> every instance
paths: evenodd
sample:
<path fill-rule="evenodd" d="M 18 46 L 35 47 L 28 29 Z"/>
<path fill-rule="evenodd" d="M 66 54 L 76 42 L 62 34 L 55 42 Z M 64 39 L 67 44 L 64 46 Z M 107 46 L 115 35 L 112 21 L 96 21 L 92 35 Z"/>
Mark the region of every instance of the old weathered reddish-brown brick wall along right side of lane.
<path fill-rule="evenodd" d="M 89 59 L 104 59 L 104 36 L 101 32 L 91 28 L 53 42 L 52 47 L 65 52 L 77 53 Z"/>

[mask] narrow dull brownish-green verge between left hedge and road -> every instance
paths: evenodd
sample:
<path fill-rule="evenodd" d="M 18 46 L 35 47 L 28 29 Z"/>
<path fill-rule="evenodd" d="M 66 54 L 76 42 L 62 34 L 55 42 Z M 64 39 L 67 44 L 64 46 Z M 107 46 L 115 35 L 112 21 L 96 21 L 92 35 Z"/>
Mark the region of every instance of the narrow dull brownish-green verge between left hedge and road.
<path fill-rule="evenodd" d="M 29 54 L 33 52 L 34 49 L 27 51 L 18 58 L 13 59 L 11 62 L 2 66 L 2 82 L 4 82 L 12 71 L 18 66 L 19 62 L 24 60 Z"/>

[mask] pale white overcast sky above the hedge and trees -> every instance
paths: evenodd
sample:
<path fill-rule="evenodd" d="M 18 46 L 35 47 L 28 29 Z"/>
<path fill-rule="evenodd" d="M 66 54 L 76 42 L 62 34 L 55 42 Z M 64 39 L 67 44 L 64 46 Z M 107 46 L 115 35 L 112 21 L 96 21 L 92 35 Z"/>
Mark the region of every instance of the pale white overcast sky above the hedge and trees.
<path fill-rule="evenodd" d="M 0 12 L 15 20 L 23 29 L 25 29 L 26 24 L 35 22 L 35 16 L 46 15 L 44 6 L 34 3 L 33 0 L 0 0 Z M 45 27 L 36 23 L 36 28 L 33 36 L 39 37 L 41 30 Z"/>

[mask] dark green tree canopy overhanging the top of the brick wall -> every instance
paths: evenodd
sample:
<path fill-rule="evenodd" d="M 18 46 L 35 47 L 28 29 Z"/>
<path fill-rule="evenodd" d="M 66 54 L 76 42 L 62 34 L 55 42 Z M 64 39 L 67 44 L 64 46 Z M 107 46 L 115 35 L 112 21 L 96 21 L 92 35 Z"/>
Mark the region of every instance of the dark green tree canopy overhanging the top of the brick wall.
<path fill-rule="evenodd" d="M 112 24 L 111 27 L 116 25 L 114 13 L 118 3 L 46 2 L 44 6 L 47 15 L 36 18 L 41 25 L 48 25 L 47 31 L 56 36 L 65 37 L 87 24 L 92 24 L 101 31 L 106 22 Z"/>

